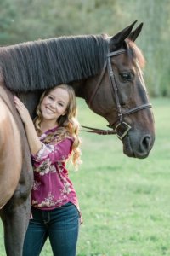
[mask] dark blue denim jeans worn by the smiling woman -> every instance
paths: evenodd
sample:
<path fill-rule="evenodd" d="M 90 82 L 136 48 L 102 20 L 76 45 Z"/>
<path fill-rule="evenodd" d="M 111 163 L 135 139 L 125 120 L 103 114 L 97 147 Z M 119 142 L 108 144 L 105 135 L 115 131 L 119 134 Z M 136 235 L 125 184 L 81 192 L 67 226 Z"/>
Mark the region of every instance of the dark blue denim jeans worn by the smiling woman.
<path fill-rule="evenodd" d="M 75 256 L 79 230 L 79 212 L 71 202 L 51 211 L 32 207 L 23 248 L 23 256 L 38 256 L 49 238 L 54 256 Z"/>

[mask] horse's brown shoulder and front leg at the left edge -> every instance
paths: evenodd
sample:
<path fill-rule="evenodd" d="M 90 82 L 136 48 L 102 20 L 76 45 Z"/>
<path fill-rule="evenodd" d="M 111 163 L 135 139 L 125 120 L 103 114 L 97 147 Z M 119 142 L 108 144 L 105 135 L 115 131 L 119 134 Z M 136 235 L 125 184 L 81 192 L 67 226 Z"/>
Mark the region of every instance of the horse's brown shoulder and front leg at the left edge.
<path fill-rule="evenodd" d="M 0 86 L 0 214 L 7 255 L 21 255 L 30 216 L 31 158 L 11 92 Z"/>

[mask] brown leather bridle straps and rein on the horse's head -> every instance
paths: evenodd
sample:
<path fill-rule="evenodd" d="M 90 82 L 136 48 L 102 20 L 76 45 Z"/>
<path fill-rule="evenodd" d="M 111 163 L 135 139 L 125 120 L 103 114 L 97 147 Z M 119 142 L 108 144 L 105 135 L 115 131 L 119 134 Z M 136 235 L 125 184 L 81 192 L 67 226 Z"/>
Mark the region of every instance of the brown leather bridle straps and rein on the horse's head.
<path fill-rule="evenodd" d="M 88 102 L 88 106 L 90 107 L 91 103 L 94 100 L 94 96 L 95 96 L 97 90 L 99 89 L 99 84 L 101 84 L 101 81 L 104 77 L 105 70 L 106 70 L 106 67 L 107 67 L 111 88 L 112 88 L 112 90 L 114 92 L 114 95 L 115 95 L 115 98 L 116 98 L 116 109 L 117 109 L 118 120 L 116 121 L 116 123 L 108 125 L 109 127 L 112 128 L 112 130 L 101 130 L 101 129 L 91 128 L 91 127 L 88 127 L 88 126 L 82 126 L 83 128 L 88 129 L 88 130 L 83 130 L 83 131 L 94 132 L 94 133 L 98 133 L 98 134 L 102 134 L 102 135 L 116 134 L 117 137 L 122 140 L 123 137 L 125 137 L 127 135 L 128 131 L 132 128 L 131 125 L 128 125 L 125 121 L 123 121 L 123 117 L 125 115 L 129 115 L 131 113 L 138 112 L 139 110 L 143 110 L 145 108 L 151 108 L 152 107 L 150 103 L 145 103 L 143 105 L 140 105 L 140 106 L 137 106 L 135 108 L 128 109 L 125 112 L 122 112 L 122 107 L 121 107 L 119 96 L 118 96 L 118 87 L 117 87 L 117 84 L 116 84 L 116 79 L 115 79 L 115 75 L 114 75 L 114 72 L 113 72 L 113 68 L 111 66 L 111 57 L 116 56 L 116 55 L 120 55 L 124 52 L 126 52 L 125 49 L 120 49 L 120 50 L 116 50 L 116 51 L 113 51 L 113 52 L 107 54 L 107 59 L 105 61 L 102 73 L 99 77 L 99 81 L 96 84 L 94 92 L 93 92 L 93 94 L 90 97 L 90 100 Z M 116 124 L 116 127 L 114 128 L 115 124 Z"/>

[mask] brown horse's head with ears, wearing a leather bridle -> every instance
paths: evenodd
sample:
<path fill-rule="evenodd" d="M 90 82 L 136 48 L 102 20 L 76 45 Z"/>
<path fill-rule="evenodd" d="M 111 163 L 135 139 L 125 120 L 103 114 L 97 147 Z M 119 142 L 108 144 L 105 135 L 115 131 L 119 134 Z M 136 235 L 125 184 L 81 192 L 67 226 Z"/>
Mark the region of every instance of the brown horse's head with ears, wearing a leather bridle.
<path fill-rule="evenodd" d="M 135 22 L 134 22 L 135 23 Z M 141 68 L 144 56 L 134 44 L 142 25 L 133 25 L 109 41 L 110 53 L 100 74 L 88 79 L 88 106 L 103 116 L 122 140 L 127 156 L 145 158 L 155 139 L 154 119 Z M 95 82 L 94 82 L 95 81 Z"/>

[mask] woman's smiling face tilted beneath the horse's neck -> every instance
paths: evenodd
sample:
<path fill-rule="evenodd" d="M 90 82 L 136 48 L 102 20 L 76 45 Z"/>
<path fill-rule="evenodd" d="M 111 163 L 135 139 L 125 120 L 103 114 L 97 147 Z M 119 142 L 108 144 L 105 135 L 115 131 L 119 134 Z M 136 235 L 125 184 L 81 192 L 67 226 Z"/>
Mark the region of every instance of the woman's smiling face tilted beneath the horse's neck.
<path fill-rule="evenodd" d="M 57 119 L 61 115 L 65 115 L 69 104 L 68 91 L 56 87 L 51 90 L 42 100 L 40 109 L 42 111 L 42 120 L 52 121 L 57 123 Z"/>

